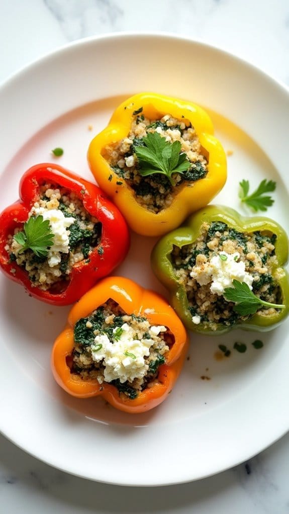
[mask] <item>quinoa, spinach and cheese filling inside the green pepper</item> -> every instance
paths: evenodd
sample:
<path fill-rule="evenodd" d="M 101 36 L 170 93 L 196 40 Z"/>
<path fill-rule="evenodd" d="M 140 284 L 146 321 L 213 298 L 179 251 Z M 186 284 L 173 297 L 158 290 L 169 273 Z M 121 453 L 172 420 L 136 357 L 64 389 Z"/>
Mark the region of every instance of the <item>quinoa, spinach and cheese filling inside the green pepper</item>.
<path fill-rule="evenodd" d="M 272 275 L 277 265 L 275 241 L 273 233 L 238 232 L 225 223 L 213 222 L 203 223 L 194 244 L 182 248 L 174 245 L 171 262 L 178 281 L 185 287 L 192 322 L 202 322 L 216 331 L 218 323 L 232 326 L 252 316 L 240 316 L 234 310 L 235 304 L 225 300 L 222 280 L 224 283 L 224 277 L 227 282 L 231 279 L 221 272 L 228 268 L 258 298 L 279 303 L 281 290 Z M 232 281 L 225 287 L 231 286 Z M 258 310 L 262 316 L 275 312 L 273 307 Z"/>

